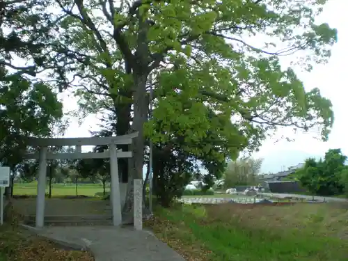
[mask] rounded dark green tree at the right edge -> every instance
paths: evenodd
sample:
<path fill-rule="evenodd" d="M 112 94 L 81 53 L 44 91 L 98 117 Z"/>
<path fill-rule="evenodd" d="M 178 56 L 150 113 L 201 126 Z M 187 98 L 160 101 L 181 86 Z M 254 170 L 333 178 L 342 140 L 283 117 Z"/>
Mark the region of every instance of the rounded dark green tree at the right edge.
<path fill-rule="evenodd" d="M 326 152 L 324 159 L 307 159 L 305 166 L 296 171 L 295 175 L 302 186 L 310 193 L 333 196 L 345 191 L 348 166 L 347 156 L 340 149 Z M 346 187 L 347 188 L 347 187 Z"/>

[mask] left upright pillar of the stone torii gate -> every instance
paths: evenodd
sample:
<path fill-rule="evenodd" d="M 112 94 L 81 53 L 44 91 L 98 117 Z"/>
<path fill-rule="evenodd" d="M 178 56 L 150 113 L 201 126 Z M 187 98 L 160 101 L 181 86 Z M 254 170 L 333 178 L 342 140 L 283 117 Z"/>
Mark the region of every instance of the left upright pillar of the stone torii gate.
<path fill-rule="evenodd" d="M 45 217 L 45 193 L 46 193 L 46 171 L 47 171 L 47 147 L 40 148 L 39 173 L 38 173 L 38 196 L 36 197 L 36 221 L 37 228 L 44 226 Z"/>

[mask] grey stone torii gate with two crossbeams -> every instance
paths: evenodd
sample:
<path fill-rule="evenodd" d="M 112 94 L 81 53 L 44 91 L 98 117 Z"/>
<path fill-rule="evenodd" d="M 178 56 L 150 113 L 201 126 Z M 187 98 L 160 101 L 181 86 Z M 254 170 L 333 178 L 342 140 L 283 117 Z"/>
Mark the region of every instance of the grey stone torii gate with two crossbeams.
<path fill-rule="evenodd" d="M 46 192 L 46 172 L 47 159 L 104 159 L 110 158 L 111 175 L 111 207 L 113 226 L 119 226 L 122 223 L 122 212 L 120 203 L 120 182 L 118 179 L 118 158 L 132 157 L 130 151 L 119 151 L 116 145 L 129 145 L 132 139 L 136 138 L 139 132 L 122 136 L 109 137 L 90 137 L 90 138 L 57 138 L 40 139 L 29 138 L 27 145 L 38 146 L 39 153 L 29 153 L 25 155 L 26 159 L 38 159 L 38 196 L 36 198 L 36 220 L 35 226 L 42 228 L 45 217 L 45 192 Z M 105 152 L 81 152 L 83 145 L 109 145 L 109 150 Z M 53 153 L 47 152 L 48 146 L 75 146 L 75 152 L 72 153 Z"/>

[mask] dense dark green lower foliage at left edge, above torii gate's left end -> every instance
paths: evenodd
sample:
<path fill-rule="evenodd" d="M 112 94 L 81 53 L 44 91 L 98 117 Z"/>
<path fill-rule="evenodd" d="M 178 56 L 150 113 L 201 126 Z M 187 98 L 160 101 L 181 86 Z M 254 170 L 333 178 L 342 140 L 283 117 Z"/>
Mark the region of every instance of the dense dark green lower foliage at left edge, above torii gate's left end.
<path fill-rule="evenodd" d="M 62 117 L 62 104 L 43 83 L 11 74 L 0 65 L 0 161 L 15 171 L 22 161 L 25 137 L 47 137 Z"/>

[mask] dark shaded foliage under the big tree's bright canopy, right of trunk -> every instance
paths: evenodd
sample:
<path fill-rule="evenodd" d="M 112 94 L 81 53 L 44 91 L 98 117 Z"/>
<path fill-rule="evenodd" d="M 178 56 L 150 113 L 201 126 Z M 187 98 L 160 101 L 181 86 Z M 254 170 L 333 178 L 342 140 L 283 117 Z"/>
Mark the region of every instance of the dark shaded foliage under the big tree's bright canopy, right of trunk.
<path fill-rule="evenodd" d="M 214 120 L 213 113 L 211 117 Z M 164 122 L 159 120 L 155 124 L 155 131 L 161 132 Z M 193 179 L 203 181 L 203 190 L 210 189 L 214 178 L 221 177 L 230 152 L 229 145 L 214 129 L 209 130 L 208 136 L 199 143 L 187 139 L 178 126 L 173 126 L 172 131 L 168 134 L 171 139 L 155 141 L 153 148 L 154 194 L 163 206 L 180 198 L 184 187 Z M 201 173 L 202 168 L 207 171 L 205 175 Z"/>

